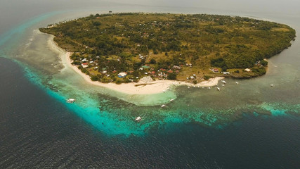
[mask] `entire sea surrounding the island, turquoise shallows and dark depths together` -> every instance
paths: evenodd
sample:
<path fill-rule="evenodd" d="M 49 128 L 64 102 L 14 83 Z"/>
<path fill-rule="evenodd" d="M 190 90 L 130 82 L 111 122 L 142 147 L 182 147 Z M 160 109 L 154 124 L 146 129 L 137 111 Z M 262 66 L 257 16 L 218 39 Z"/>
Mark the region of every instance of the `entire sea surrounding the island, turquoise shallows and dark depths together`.
<path fill-rule="evenodd" d="M 43 48 L 48 37 L 33 30 L 61 18 L 74 18 L 70 11 L 97 11 L 95 6 L 101 6 L 100 2 L 91 1 L 90 6 L 81 8 L 83 4 L 78 1 L 60 5 L 31 0 L 23 6 L 27 15 L 20 10 L 21 2 L 0 2 L 1 13 L 12 15 L 15 8 L 19 15 L 11 16 L 15 21 L 3 16 L 0 20 L 0 168 L 300 168 L 298 39 L 290 49 L 274 56 L 266 76 L 241 80 L 238 87 L 230 86 L 233 80 L 228 80 L 221 95 L 179 87 L 174 89 L 174 103 L 162 110 L 157 105 L 130 102 L 141 99 L 135 96 L 114 95 L 102 89 L 95 93 L 96 89 L 85 89 L 85 84 L 73 86 L 61 81 L 67 73 L 47 67 L 56 63 L 50 59 L 56 55 Z M 102 11 L 117 11 L 123 6 L 117 2 L 103 4 Z M 125 11 L 219 10 L 147 3 L 127 7 Z M 270 20 L 278 17 L 278 22 L 299 30 L 299 16 L 275 15 L 271 9 L 241 15 Z M 241 12 L 228 8 L 219 13 Z M 27 45 L 28 39 L 32 44 Z M 30 58 L 37 54 L 51 57 L 47 60 L 43 56 L 43 61 Z M 270 89 L 270 83 L 275 87 Z M 70 90 L 89 93 L 81 97 L 81 102 L 89 103 L 66 104 Z M 141 112 L 147 119 L 140 124 L 132 122 L 131 118 Z"/>

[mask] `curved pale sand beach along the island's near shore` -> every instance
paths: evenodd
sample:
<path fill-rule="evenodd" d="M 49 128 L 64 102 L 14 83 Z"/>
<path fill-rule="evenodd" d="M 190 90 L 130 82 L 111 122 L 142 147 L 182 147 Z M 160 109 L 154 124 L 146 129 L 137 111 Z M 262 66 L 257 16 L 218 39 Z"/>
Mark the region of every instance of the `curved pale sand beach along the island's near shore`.
<path fill-rule="evenodd" d="M 89 75 L 82 73 L 81 70 L 77 68 L 76 65 L 72 65 L 72 60 L 70 55 L 72 52 L 65 51 L 65 49 L 60 48 L 56 42 L 53 40 L 54 36 L 51 36 L 51 43 L 54 49 L 58 49 L 58 51 L 65 52 L 65 54 L 60 55 L 62 59 L 62 64 L 65 68 L 72 68 L 74 72 L 78 73 L 81 77 L 84 78 L 86 82 L 89 84 L 93 84 L 99 87 L 105 87 L 107 89 L 112 89 L 117 92 L 122 92 L 124 94 L 159 94 L 166 92 L 170 87 L 174 86 L 195 86 L 195 87 L 211 87 L 218 84 L 219 80 L 222 80 L 224 77 L 214 77 L 207 81 L 199 82 L 197 84 L 191 84 L 188 82 L 180 82 L 176 80 L 156 80 L 153 82 L 130 82 L 130 83 L 122 83 L 122 84 L 115 84 L 115 83 L 102 83 L 98 81 L 92 81 Z"/>

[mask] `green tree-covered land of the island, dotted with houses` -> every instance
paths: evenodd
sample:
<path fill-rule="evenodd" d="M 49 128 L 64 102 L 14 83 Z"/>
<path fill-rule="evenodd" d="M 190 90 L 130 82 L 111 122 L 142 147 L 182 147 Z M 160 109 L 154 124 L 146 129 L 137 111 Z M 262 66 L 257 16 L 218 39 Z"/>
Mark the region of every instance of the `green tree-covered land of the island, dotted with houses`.
<path fill-rule="evenodd" d="M 117 83 L 148 75 L 190 82 L 263 75 L 268 65 L 263 59 L 286 49 L 295 37 L 287 25 L 206 14 L 96 14 L 40 30 L 74 52 L 73 64 L 92 80 Z M 127 75 L 118 77 L 122 72 Z"/>

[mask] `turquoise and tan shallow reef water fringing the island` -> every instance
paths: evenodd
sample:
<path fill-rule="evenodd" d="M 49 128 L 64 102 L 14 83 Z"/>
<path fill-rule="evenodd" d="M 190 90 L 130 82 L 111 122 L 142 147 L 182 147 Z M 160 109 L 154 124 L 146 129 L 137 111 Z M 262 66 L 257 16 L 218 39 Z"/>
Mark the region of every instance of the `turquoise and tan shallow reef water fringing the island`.
<path fill-rule="evenodd" d="M 53 16 L 62 17 L 60 13 L 63 12 L 40 15 L 1 35 L 1 53 L 22 65 L 26 76 L 48 95 L 107 135 L 144 135 L 160 130 L 168 123 L 221 127 L 239 120 L 242 113 L 299 113 L 299 92 L 296 90 L 299 68 L 297 70 L 293 62 L 296 60 L 294 54 L 299 53 L 298 42 L 270 59 L 267 75 L 238 80 L 239 85 L 235 80 L 226 80 L 228 84 L 221 92 L 176 87 L 162 94 L 129 95 L 93 87 L 72 70 L 63 68 L 61 51 L 53 50 L 49 44 L 50 36 L 37 31 L 38 27 L 45 26 L 45 20 L 51 23 Z M 275 87 L 269 87 L 270 84 Z M 70 97 L 78 102 L 67 104 L 65 99 Z M 169 103 L 169 99 L 175 101 Z M 167 104 L 166 108 L 160 108 L 162 104 Z M 143 115 L 145 120 L 135 123 L 133 119 L 138 115 Z"/>

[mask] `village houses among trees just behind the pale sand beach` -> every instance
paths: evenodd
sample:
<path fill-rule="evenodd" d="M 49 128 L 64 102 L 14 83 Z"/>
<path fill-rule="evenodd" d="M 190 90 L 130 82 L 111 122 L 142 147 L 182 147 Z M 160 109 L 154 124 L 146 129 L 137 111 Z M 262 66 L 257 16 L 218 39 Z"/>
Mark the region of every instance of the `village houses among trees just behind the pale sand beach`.
<path fill-rule="evenodd" d="M 176 75 L 180 73 L 182 68 L 192 68 L 193 64 L 185 63 L 185 65 L 173 65 L 172 67 L 169 66 L 168 69 L 165 68 L 155 68 L 153 64 L 141 65 L 140 68 L 137 70 L 129 70 L 129 71 L 120 71 L 117 70 L 118 66 L 113 68 L 107 67 L 100 67 L 99 65 L 99 58 L 100 56 L 96 57 L 89 57 L 87 58 L 74 58 L 71 56 L 74 61 L 72 64 L 77 65 L 83 73 L 86 73 L 91 77 L 93 81 L 100 81 L 100 82 L 138 82 L 142 80 L 144 82 L 152 82 L 153 80 L 176 80 Z M 138 54 L 138 58 L 147 60 L 148 56 L 142 56 Z M 78 61 L 79 60 L 79 61 Z M 117 58 L 117 62 L 120 62 L 120 58 Z M 259 63 L 256 63 L 258 65 Z M 261 66 L 261 65 L 260 65 Z M 87 71 L 86 71 L 87 70 Z M 233 73 L 229 73 L 226 71 L 221 71 L 220 68 L 209 68 L 214 75 L 217 76 L 230 76 Z M 237 71 L 237 70 L 235 70 Z M 246 68 L 244 70 L 245 73 L 252 73 L 252 70 Z M 149 78 L 150 77 L 150 78 Z M 196 74 L 190 74 L 186 77 L 185 81 L 196 83 L 195 80 L 199 80 L 199 82 L 203 80 L 207 80 L 208 78 L 199 78 Z M 197 81 L 198 82 L 198 81 Z"/>

